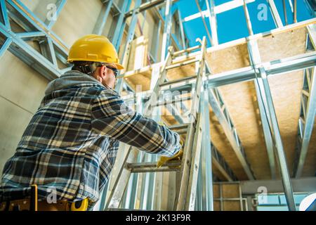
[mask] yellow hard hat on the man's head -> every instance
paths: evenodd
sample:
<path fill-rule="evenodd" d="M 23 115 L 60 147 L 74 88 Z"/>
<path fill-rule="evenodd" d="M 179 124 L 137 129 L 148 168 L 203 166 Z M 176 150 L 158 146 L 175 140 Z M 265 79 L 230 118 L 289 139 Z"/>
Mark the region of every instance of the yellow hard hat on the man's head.
<path fill-rule="evenodd" d="M 117 50 L 113 44 L 104 36 L 88 34 L 78 39 L 69 51 L 68 62 L 89 61 L 98 63 L 112 63 L 118 70 L 123 70 L 119 64 Z"/>

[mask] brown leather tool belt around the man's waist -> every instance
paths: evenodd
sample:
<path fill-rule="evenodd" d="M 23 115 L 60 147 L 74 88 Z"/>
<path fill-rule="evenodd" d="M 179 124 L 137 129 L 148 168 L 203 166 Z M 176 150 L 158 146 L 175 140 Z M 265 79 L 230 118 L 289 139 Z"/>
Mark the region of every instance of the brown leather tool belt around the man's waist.
<path fill-rule="evenodd" d="M 88 198 L 74 203 L 68 200 L 58 200 L 56 203 L 38 200 L 36 185 L 32 185 L 30 198 L 0 203 L 0 211 L 86 211 L 87 209 Z"/>

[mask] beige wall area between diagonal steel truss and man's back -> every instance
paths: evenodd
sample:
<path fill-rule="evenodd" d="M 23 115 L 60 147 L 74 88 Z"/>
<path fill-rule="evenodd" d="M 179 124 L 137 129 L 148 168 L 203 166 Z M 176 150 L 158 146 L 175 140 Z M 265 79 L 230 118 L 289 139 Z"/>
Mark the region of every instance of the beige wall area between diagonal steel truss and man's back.
<path fill-rule="evenodd" d="M 0 60 L 0 169 L 15 153 L 20 137 L 39 107 L 48 80 L 12 53 Z"/>

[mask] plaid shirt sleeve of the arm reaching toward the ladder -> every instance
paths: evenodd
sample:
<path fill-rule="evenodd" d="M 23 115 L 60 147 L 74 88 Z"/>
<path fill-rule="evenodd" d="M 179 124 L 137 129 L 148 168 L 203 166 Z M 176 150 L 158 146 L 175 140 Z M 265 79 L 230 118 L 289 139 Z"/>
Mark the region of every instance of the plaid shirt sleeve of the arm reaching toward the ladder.
<path fill-rule="evenodd" d="M 171 157 L 180 150 L 180 136 L 131 110 L 114 91 L 101 91 L 92 105 L 92 128 L 98 134 Z"/>

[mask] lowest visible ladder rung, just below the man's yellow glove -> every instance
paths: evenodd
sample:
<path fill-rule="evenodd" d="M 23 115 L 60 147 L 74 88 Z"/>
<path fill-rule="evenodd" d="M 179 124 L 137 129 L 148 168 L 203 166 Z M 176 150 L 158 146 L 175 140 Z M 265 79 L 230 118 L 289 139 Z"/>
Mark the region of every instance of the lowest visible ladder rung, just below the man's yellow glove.
<path fill-rule="evenodd" d="M 167 162 L 163 167 L 157 167 L 157 162 L 139 162 L 127 163 L 127 168 L 131 169 L 131 173 L 146 173 L 146 172 L 170 172 L 179 170 L 180 161 Z"/>

